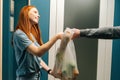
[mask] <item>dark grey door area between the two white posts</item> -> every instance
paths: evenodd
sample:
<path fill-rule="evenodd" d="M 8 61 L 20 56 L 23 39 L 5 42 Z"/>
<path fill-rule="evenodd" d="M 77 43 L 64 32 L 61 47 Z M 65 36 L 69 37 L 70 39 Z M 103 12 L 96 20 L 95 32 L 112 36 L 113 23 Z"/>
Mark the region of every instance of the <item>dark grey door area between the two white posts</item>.
<path fill-rule="evenodd" d="M 64 29 L 99 27 L 100 0 L 65 0 L 64 4 Z M 96 80 L 98 40 L 80 38 L 74 44 L 80 72 L 77 80 Z"/>

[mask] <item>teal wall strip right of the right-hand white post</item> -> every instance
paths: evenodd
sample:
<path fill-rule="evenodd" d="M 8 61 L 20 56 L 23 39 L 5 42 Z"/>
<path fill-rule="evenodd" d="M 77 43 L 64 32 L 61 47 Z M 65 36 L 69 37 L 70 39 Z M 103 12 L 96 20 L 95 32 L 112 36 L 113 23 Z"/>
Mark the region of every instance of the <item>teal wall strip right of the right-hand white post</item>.
<path fill-rule="evenodd" d="M 120 26 L 120 0 L 115 0 L 114 26 Z M 120 39 L 113 40 L 111 80 L 120 80 Z"/>

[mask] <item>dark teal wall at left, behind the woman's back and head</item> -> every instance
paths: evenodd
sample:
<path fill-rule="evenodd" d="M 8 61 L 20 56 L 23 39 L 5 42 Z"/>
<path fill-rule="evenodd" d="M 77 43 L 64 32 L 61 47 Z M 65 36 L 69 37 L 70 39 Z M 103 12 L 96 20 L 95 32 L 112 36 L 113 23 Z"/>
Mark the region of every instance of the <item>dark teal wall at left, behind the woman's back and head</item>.
<path fill-rule="evenodd" d="M 14 0 L 15 25 L 21 7 L 28 4 L 28 0 Z M 2 80 L 16 80 L 16 61 L 11 45 L 13 32 L 10 32 L 10 0 L 3 0 L 3 54 L 2 54 Z"/>

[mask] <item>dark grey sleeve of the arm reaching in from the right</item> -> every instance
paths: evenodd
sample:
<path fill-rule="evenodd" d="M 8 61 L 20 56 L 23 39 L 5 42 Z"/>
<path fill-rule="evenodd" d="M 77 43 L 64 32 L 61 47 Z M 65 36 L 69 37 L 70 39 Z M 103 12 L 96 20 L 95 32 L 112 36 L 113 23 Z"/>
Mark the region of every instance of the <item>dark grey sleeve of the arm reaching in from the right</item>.
<path fill-rule="evenodd" d="M 120 26 L 80 29 L 80 37 L 97 39 L 120 39 Z"/>

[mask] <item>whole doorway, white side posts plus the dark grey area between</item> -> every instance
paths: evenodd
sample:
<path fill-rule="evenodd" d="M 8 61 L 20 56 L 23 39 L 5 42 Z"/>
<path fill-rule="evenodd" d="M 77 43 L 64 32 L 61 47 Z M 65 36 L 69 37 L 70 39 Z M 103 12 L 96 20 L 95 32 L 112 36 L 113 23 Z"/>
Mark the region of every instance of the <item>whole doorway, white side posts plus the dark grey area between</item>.
<path fill-rule="evenodd" d="M 88 11 L 88 12 L 87 12 Z M 98 28 L 113 25 L 113 0 L 51 0 L 50 36 L 66 27 Z M 111 40 L 78 39 L 74 40 L 80 75 L 77 80 L 110 80 Z M 55 53 L 56 45 L 49 51 Z M 55 60 L 54 55 L 49 59 Z M 49 65 L 54 62 L 49 60 Z M 49 77 L 49 80 L 56 80 Z"/>

